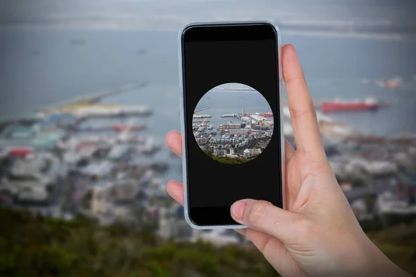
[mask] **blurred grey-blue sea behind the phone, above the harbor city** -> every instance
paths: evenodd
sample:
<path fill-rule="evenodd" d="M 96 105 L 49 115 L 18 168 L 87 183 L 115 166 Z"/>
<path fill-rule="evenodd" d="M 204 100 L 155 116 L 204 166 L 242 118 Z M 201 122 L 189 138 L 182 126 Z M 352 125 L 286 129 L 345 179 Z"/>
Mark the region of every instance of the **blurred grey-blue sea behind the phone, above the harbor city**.
<path fill-rule="evenodd" d="M 376 135 L 416 133 L 416 39 L 286 35 L 284 31 L 281 37 L 283 44 L 297 47 L 315 100 L 374 96 L 394 103 L 376 112 L 333 114 L 333 118 Z M 73 39 L 85 43 L 73 44 Z M 168 131 L 180 128 L 176 32 L 3 29 L 0 57 L 0 120 L 30 115 L 40 107 L 87 93 L 148 81 L 148 87 L 103 102 L 151 107 L 154 115 L 144 120 L 145 134 L 162 143 Z M 395 76 L 405 81 L 396 90 L 362 81 Z M 153 159 L 169 159 L 175 169 L 166 178 L 180 178 L 180 160 L 170 157 L 168 150 Z"/>

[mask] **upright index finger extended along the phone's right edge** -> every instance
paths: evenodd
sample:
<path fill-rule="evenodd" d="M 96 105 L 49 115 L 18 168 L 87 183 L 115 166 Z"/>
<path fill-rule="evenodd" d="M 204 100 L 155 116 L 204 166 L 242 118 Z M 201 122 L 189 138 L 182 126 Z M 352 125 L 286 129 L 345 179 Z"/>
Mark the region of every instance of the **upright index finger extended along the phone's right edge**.
<path fill-rule="evenodd" d="M 297 151 L 322 154 L 322 139 L 315 108 L 306 85 L 302 66 L 292 45 L 285 45 L 282 48 L 282 69 L 296 149 Z"/>

